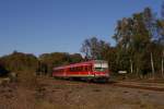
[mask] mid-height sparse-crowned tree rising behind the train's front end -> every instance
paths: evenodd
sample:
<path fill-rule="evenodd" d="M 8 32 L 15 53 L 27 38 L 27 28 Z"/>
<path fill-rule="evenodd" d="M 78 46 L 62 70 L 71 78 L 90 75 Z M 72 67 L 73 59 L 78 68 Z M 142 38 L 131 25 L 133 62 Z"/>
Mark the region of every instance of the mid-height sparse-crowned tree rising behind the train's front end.
<path fill-rule="evenodd" d="M 96 37 L 92 37 L 83 41 L 81 51 L 87 59 L 108 61 L 110 72 L 116 72 L 118 70 L 116 63 L 116 47 L 110 47 L 108 43 L 97 39 Z"/>

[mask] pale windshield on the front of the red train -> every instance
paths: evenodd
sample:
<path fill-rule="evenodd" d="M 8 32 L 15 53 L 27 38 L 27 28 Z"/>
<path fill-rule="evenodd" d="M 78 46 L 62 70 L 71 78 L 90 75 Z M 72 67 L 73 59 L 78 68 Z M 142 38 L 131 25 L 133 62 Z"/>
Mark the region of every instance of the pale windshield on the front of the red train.
<path fill-rule="evenodd" d="M 94 71 L 104 72 L 108 70 L 108 64 L 106 61 L 96 61 L 94 63 Z"/>

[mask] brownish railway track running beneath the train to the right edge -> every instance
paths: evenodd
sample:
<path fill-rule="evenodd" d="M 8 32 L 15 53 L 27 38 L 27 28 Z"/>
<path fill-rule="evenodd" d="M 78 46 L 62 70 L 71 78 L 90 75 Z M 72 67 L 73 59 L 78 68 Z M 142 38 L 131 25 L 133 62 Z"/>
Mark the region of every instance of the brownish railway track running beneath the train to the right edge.
<path fill-rule="evenodd" d="M 62 80 L 63 82 L 63 80 Z M 84 82 L 84 81 L 66 81 L 67 85 L 101 85 L 101 86 L 117 86 L 117 87 L 127 87 L 127 88 L 137 88 L 137 89 L 147 89 L 154 92 L 164 92 L 164 83 L 152 83 L 152 82 L 131 82 L 131 81 L 110 81 L 108 83 L 98 83 L 98 82 Z"/>

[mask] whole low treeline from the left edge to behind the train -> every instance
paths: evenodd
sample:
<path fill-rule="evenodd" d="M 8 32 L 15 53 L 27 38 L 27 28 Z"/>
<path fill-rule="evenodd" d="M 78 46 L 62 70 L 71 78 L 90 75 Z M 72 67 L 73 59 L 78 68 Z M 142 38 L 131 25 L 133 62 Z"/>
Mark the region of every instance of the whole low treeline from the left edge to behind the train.
<path fill-rule="evenodd" d="M 0 74 L 28 72 L 51 75 L 54 66 L 80 62 L 82 60 L 80 53 L 52 52 L 40 55 L 37 58 L 31 53 L 14 51 L 11 55 L 0 58 Z"/>

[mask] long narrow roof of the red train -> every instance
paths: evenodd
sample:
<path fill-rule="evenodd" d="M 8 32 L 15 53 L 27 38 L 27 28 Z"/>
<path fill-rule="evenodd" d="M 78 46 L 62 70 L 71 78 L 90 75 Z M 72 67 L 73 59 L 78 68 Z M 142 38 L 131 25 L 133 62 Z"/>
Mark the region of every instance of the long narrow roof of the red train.
<path fill-rule="evenodd" d="M 79 63 L 73 63 L 73 64 L 69 64 L 69 65 L 62 65 L 62 66 L 57 66 L 54 68 L 54 70 L 60 70 L 60 69 L 66 69 L 66 68 L 74 68 L 74 66 L 80 66 L 80 65 L 91 65 L 92 63 L 95 62 L 106 62 L 104 60 L 91 60 L 91 61 L 85 61 L 85 62 L 79 62 Z"/>

